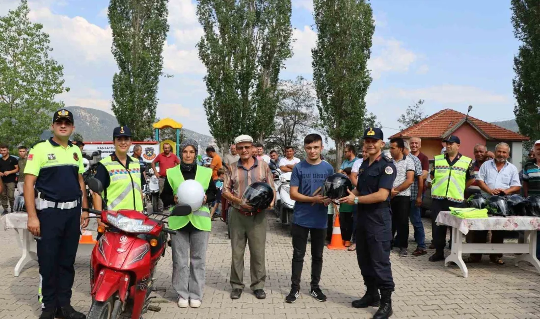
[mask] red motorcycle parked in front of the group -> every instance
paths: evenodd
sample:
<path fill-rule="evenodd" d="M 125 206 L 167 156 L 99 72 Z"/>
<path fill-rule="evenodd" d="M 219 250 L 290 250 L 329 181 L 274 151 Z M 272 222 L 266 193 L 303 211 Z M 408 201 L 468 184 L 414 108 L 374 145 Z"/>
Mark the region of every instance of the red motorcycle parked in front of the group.
<path fill-rule="evenodd" d="M 93 192 L 102 193 L 99 180 L 92 178 L 88 185 Z M 190 206 L 177 205 L 161 220 L 131 210 L 90 212 L 111 228 L 106 232 L 99 229 L 102 236 L 90 257 L 92 305 L 87 318 L 117 319 L 128 307 L 132 319 L 139 319 L 149 310 L 160 311 L 160 307 L 150 304 L 150 294 L 165 289 L 154 287 L 153 276 L 165 254 L 167 234 L 176 234 L 164 227 L 163 219 L 188 215 Z"/>

